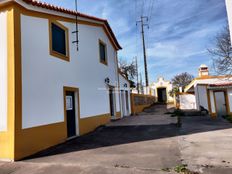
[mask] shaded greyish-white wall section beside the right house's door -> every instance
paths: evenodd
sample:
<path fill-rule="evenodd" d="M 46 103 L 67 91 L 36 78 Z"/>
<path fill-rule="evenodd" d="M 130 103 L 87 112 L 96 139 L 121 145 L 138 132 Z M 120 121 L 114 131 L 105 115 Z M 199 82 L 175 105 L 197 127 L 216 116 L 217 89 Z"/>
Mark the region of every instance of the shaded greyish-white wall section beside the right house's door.
<path fill-rule="evenodd" d="M 205 109 L 209 110 L 206 86 L 197 85 L 195 92 L 197 109 L 200 109 L 200 106 L 203 106 Z"/>

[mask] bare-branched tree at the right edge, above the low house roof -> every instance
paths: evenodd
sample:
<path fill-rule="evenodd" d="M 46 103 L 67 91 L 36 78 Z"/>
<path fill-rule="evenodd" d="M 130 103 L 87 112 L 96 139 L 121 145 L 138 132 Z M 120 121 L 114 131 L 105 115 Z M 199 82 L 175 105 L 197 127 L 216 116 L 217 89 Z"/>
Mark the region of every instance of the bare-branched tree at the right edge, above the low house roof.
<path fill-rule="evenodd" d="M 213 68 L 217 74 L 232 74 L 232 46 L 229 26 L 225 27 L 215 37 L 215 48 L 208 49 L 212 55 Z"/>

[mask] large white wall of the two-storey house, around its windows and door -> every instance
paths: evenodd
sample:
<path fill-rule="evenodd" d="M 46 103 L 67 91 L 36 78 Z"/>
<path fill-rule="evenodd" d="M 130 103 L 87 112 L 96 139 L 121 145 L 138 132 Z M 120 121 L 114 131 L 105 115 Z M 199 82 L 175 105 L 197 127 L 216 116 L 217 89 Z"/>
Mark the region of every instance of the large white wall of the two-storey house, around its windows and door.
<path fill-rule="evenodd" d="M 117 87 L 116 52 L 101 27 L 79 25 L 76 51 L 75 24 L 69 29 L 70 62 L 49 54 L 48 20 L 21 16 L 23 128 L 64 121 L 63 86 L 79 88 L 81 118 L 109 113 L 109 96 L 104 83 Z M 99 62 L 101 39 L 107 44 L 108 66 Z M 117 111 L 119 97 L 116 95 Z"/>

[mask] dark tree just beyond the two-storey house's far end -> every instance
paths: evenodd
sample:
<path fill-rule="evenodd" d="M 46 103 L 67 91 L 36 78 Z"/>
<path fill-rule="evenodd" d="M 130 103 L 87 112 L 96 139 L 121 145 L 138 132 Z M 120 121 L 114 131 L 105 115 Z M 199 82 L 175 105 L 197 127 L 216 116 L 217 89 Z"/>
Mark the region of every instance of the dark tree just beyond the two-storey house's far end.
<path fill-rule="evenodd" d="M 119 69 L 121 73 L 130 81 L 130 86 L 132 88 L 135 88 L 136 85 L 135 85 L 134 79 L 137 75 L 135 61 L 128 63 L 125 60 L 119 60 Z"/>

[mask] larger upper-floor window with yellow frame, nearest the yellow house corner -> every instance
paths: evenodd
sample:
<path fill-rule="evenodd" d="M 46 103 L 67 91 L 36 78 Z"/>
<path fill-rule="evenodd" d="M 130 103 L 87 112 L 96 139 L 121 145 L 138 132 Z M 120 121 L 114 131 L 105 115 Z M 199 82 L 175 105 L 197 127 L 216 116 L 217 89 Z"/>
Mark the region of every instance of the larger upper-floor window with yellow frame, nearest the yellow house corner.
<path fill-rule="evenodd" d="M 69 61 L 68 29 L 58 22 L 50 22 L 50 54 Z"/>

